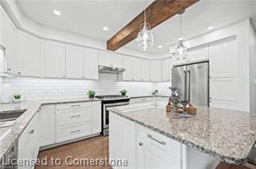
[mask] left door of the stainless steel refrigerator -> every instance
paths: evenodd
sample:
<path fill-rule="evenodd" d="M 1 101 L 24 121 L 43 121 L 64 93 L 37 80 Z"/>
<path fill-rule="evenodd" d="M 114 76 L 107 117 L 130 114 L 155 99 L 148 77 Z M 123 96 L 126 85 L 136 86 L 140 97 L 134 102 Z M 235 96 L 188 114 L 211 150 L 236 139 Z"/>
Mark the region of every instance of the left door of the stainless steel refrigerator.
<path fill-rule="evenodd" d="M 184 100 L 184 86 L 185 86 L 186 66 L 179 66 L 172 68 L 172 87 L 177 88 L 181 100 Z"/>

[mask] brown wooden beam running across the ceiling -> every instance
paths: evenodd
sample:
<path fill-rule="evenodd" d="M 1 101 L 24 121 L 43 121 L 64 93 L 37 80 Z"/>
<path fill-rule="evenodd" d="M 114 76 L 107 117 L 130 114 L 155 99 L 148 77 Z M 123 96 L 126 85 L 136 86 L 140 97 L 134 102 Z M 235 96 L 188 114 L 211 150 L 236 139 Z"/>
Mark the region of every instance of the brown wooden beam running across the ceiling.
<path fill-rule="evenodd" d="M 151 29 L 170 17 L 185 10 L 187 7 L 197 3 L 199 0 L 156 0 L 146 10 L 146 21 L 150 23 Z M 144 21 L 143 11 L 130 23 L 122 28 L 117 34 L 106 42 L 107 49 L 115 51 L 123 45 L 134 40 L 140 30 L 140 25 Z"/>

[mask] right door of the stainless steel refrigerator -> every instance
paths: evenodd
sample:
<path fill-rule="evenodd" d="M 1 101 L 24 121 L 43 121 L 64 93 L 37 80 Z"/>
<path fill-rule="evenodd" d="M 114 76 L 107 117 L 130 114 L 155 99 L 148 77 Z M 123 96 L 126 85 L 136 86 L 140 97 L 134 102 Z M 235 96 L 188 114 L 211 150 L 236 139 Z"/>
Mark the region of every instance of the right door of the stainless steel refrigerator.
<path fill-rule="evenodd" d="M 208 62 L 187 66 L 189 100 L 196 105 L 208 106 Z"/>

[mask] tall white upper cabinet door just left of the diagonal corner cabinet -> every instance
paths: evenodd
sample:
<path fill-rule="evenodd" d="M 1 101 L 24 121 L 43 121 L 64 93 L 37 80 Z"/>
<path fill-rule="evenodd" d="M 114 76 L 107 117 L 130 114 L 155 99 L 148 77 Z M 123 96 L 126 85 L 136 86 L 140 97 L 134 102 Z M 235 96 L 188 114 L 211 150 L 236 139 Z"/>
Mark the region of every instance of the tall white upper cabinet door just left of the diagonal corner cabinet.
<path fill-rule="evenodd" d="M 7 71 L 13 74 L 17 73 L 17 30 L 12 25 L 11 21 L 5 17 L 6 22 L 6 64 L 7 64 Z"/>

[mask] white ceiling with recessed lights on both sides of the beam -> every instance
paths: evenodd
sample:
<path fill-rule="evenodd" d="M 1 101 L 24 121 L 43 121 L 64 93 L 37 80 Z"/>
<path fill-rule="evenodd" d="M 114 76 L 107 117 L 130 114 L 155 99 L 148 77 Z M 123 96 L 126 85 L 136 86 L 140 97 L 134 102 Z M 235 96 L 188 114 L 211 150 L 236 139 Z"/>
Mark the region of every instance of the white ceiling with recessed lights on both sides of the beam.
<path fill-rule="evenodd" d="M 152 1 L 18 0 L 18 6 L 25 16 L 41 25 L 106 41 Z M 55 16 L 54 9 L 59 10 L 61 16 Z M 256 15 L 255 9 L 255 0 L 201 0 L 183 14 L 184 38 L 206 33 L 209 26 L 214 26 L 215 30 Z M 166 52 L 180 35 L 179 24 L 176 15 L 153 29 L 155 43 L 149 52 Z M 109 27 L 109 31 L 102 31 L 103 26 Z M 163 48 L 158 49 L 158 45 L 163 45 Z M 135 41 L 126 46 L 138 50 Z"/>

